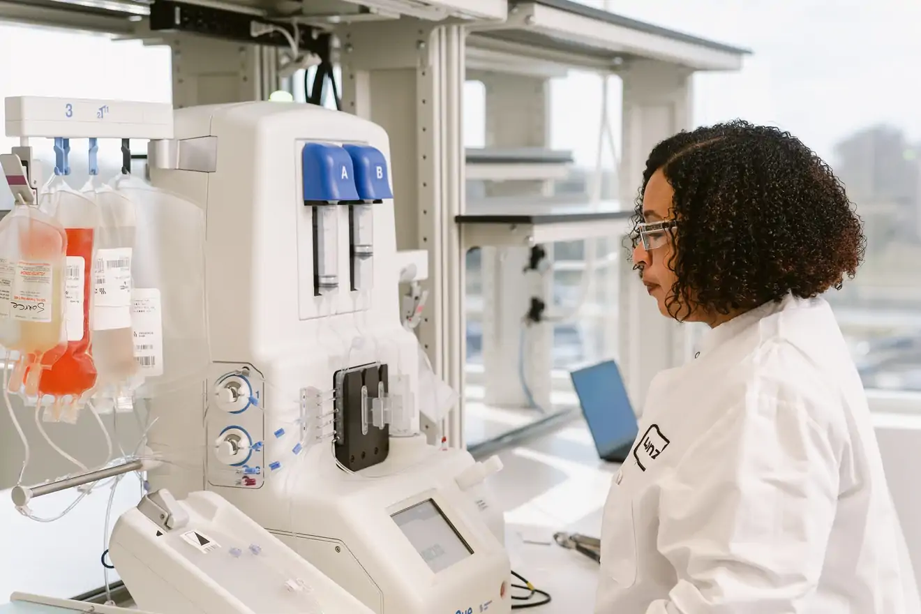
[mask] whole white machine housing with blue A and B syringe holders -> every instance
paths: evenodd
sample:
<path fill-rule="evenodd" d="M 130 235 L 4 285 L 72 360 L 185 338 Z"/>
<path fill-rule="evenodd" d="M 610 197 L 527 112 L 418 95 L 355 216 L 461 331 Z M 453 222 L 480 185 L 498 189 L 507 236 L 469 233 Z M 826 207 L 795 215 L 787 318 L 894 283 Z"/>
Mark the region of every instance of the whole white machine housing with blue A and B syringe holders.
<path fill-rule="evenodd" d="M 389 168 L 387 133 L 344 112 L 278 102 L 176 110 L 174 131 L 175 142 L 154 150 L 151 180 L 206 212 L 213 367 L 204 400 L 189 388 L 152 401 L 149 445 L 175 459 L 149 475 L 152 488 L 219 492 L 378 614 L 509 612 L 507 552 L 467 492 L 488 471 L 470 454 L 428 446 L 421 434 L 391 436 L 387 460 L 351 474 L 329 440 L 315 442 L 313 427 L 297 423 L 306 391 L 332 401 L 333 375 L 346 366 L 387 364 L 391 391 L 417 396 L 392 200 L 372 205 L 373 288 L 350 290 L 347 206 L 336 210 L 339 290 L 316 296 L 313 286 L 304 146 L 371 145 Z M 234 446 L 216 447 L 228 434 Z M 204 467 L 190 471 L 203 448 Z M 261 470 L 241 479 L 244 464 Z"/>

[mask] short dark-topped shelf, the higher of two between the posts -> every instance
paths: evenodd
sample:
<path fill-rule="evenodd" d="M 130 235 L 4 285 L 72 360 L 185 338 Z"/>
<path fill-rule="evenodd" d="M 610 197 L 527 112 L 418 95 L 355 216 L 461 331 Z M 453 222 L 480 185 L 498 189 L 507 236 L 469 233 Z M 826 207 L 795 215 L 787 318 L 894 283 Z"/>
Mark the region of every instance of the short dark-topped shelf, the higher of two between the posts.
<path fill-rule="evenodd" d="M 573 163 L 572 152 L 537 147 L 469 148 L 467 180 L 563 180 Z"/>

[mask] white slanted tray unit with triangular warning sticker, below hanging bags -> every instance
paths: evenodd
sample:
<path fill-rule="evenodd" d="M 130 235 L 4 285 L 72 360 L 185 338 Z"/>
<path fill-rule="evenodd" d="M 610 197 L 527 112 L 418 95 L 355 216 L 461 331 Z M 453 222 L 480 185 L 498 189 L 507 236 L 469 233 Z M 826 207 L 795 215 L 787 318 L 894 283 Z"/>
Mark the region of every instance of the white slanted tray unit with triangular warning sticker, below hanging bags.
<path fill-rule="evenodd" d="M 169 614 L 370 614 L 214 492 L 152 492 L 115 524 L 111 562 L 140 608 Z"/>

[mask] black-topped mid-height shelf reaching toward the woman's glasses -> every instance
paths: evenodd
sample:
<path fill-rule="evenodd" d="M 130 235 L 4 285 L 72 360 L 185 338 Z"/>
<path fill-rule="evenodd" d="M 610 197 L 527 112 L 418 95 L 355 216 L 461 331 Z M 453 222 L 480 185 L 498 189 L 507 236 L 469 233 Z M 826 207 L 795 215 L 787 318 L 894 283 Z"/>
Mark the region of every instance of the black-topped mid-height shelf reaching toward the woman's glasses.
<path fill-rule="evenodd" d="M 584 201 L 509 198 L 468 202 L 466 211 L 454 219 L 469 249 L 622 237 L 633 226 L 632 216 L 632 210 L 624 211 L 613 201 L 593 206 Z"/>

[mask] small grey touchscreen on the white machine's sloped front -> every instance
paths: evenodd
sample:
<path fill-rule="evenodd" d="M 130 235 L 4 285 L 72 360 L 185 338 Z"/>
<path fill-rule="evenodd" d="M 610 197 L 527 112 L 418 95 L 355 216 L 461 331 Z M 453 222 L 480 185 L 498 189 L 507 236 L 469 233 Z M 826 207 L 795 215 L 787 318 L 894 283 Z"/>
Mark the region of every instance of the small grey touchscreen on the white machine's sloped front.
<path fill-rule="evenodd" d="M 397 512 L 391 518 L 434 573 L 473 553 L 431 499 Z"/>

